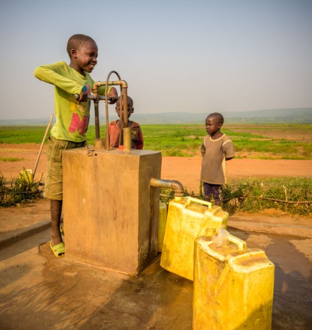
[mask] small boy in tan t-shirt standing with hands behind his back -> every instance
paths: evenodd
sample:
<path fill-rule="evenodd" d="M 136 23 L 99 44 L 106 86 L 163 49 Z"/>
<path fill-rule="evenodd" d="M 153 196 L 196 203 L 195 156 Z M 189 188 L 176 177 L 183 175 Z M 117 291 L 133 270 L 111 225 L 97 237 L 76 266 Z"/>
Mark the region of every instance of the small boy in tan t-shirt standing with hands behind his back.
<path fill-rule="evenodd" d="M 226 183 L 225 161 L 235 156 L 232 141 L 220 131 L 223 122 L 221 114 L 213 113 L 207 116 L 205 124 L 209 135 L 204 138 L 200 147 L 200 179 L 203 182 L 204 200 L 210 202 L 213 196 L 218 206 L 221 206 L 220 186 Z"/>

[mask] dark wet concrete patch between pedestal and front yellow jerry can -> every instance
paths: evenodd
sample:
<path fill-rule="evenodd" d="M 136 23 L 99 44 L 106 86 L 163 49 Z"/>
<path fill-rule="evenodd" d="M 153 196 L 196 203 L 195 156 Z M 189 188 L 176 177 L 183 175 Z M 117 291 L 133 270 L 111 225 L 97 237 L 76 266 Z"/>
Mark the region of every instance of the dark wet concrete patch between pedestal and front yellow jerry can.
<path fill-rule="evenodd" d="M 79 329 L 191 329 L 193 283 L 160 267 L 160 259 L 120 286 Z"/>

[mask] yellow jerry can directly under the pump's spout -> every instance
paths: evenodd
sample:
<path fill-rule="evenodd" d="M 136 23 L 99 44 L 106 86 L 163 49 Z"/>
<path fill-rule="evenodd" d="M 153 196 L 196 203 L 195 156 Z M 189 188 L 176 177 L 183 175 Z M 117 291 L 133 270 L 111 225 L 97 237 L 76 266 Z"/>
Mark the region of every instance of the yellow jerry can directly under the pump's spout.
<path fill-rule="evenodd" d="M 194 242 L 206 228 L 226 228 L 228 213 L 220 206 L 193 197 L 175 197 L 169 203 L 161 258 L 166 270 L 193 281 Z"/>

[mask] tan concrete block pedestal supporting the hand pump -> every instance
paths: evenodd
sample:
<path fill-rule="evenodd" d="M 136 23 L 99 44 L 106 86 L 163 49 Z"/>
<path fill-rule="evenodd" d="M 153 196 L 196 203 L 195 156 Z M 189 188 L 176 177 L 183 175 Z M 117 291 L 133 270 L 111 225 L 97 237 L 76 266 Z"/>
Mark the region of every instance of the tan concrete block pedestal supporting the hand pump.
<path fill-rule="evenodd" d="M 65 257 L 138 274 L 158 248 L 162 156 L 147 150 L 63 152 Z"/>

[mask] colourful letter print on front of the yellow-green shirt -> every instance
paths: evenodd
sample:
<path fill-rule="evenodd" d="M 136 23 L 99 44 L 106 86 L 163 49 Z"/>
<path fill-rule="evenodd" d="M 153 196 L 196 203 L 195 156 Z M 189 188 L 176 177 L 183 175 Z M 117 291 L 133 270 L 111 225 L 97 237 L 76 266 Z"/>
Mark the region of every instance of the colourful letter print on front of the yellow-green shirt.
<path fill-rule="evenodd" d="M 84 86 L 83 91 L 90 95 L 90 86 Z M 90 101 L 82 103 L 70 103 L 70 110 L 73 112 L 73 114 L 68 128 L 69 132 L 74 133 L 77 130 L 80 134 L 84 134 L 87 131 L 89 116 L 83 115 L 83 118 L 80 119 L 79 114 L 85 114 L 87 112 L 87 109 L 89 108 L 89 102 Z"/>

